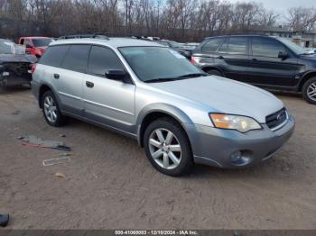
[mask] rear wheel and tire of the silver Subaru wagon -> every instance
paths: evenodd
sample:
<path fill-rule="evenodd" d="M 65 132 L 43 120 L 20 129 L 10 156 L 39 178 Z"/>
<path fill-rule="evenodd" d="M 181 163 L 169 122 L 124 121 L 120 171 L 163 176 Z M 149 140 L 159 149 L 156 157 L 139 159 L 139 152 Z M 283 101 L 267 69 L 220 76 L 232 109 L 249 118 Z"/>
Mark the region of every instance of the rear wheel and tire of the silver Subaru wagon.
<path fill-rule="evenodd" d="M 65 123 L 65 117 L 60 113 L 57 99 L 51 91 L 42 95 L 42 113 L 51 126 L 59 127 Z"/>

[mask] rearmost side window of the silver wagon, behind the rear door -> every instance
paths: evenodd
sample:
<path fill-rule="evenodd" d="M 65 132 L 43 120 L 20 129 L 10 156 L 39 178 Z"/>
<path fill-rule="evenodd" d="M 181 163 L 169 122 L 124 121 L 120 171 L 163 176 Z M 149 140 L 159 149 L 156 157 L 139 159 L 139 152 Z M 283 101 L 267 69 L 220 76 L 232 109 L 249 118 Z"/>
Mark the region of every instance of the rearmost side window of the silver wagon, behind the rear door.
<path fill-rule="evenodd" d="M 61 61 L 65 57 L 69 48 L 69 45 L 51 46 L 42 55 L 39 63 L 42 65 L 59 68 Z"/>

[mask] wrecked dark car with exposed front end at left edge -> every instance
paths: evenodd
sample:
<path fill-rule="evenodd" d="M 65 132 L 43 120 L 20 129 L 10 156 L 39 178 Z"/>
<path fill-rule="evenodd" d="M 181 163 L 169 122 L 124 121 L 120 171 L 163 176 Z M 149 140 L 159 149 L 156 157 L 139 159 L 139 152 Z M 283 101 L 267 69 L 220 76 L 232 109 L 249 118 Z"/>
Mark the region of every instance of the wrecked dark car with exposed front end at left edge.
<path fill-rule="evenodd" d="M 29 84 L 31 67 L 36 60 L 32 55 L 25 55 L 22 46 L 0 39 L 0 86 Z"/>

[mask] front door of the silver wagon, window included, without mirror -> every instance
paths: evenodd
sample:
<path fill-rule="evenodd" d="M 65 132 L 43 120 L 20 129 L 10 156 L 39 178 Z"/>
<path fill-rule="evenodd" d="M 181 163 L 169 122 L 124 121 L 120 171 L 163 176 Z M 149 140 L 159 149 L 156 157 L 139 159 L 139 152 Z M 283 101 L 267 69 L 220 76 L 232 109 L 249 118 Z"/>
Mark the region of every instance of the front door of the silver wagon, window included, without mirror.
<path fill-rule="evenodd" d="M 105 75 L 109 69 L 125 67 L 114 50 L 92 46 L 83 89 L 85 115 L 89 120 L 133 132 L 135 85 L 108 79 Z"/>

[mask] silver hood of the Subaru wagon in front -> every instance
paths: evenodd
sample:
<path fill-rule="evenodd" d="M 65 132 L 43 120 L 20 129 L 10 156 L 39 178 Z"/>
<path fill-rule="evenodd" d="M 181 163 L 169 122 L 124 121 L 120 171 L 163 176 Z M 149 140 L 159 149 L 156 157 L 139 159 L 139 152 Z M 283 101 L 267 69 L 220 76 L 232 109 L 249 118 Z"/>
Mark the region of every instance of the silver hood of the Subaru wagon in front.
<path fill-rule="evenodd" d="M 224 77 L 196 77 L 148 85 L 203 104 L 209 112 L 246 115 L 259 123 L 265 123 L 266 115 L 283 108 L 283 102 L 271 93 Z"/>

